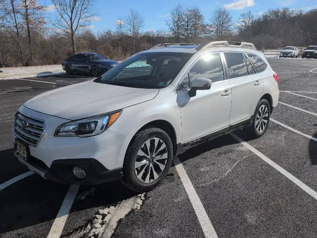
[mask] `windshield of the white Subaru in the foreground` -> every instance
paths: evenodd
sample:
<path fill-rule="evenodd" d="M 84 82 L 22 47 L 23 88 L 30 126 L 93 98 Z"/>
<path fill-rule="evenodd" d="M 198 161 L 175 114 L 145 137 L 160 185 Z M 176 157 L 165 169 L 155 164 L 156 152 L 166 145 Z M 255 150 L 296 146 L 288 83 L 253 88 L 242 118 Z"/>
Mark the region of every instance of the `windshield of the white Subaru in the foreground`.
<path fill-rule="evenodd" d="M 173 52 L 140 53 L 119 63 L 95 82 L 134 88 L 164 88 L 191 56 Z"/>

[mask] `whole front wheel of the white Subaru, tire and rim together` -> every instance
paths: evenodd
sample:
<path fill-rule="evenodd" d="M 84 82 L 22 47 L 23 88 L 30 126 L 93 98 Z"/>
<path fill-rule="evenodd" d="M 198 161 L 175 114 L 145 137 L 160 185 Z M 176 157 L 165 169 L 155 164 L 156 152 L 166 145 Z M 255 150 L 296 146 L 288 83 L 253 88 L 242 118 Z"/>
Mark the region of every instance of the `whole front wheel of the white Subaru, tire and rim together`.
<path fill-rule="evenodd" d="M 123 184 L 146 192 L 165 178 L 173 159 L 172 141 L 160 128 L 138 132 L 130 142 L 123 166 Z"/>

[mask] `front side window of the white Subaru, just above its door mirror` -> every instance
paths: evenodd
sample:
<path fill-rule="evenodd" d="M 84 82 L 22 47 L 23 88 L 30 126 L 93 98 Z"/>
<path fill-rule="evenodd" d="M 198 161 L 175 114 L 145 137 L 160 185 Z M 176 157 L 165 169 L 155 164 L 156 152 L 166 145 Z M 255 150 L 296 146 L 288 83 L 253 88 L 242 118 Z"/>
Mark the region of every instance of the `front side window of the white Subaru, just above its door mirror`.
<path fill-rule="evenodd" d="M 189 70 L 189 73 L 179 84 L 176 91 L 190 88 L 190 84 L 195 78 L 209 78 L 211 79 L 211 83 L 223 80 L 223 68 L 220 55 L 218 53 L 206 54 L 197 60 Z"/>

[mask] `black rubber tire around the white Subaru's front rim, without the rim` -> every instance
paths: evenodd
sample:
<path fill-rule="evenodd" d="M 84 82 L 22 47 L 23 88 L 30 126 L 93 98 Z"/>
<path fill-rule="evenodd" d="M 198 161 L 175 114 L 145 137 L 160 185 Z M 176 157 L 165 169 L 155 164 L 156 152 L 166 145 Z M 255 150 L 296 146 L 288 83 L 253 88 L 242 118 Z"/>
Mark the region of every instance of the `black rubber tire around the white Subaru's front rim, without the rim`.
<path fill-rule="evenodd" d="M 161 141 L 165 143 L 166 149 L 167 149 L 167 159 L 165 162 L 165 167 L 163 171 L 160 173 L 159 177 L 152 182 L 145 183 L 140 181 L 137 178 L 137 175 L 135 172 L 135 162 L 137 158 L 137 153 L 139 152 L 141 147 L 145 145 L 145 143 L 149 139 L 154 139 L 154 138 L 159 138 Z M 150 191 L 153 188 L 155 188 L 157 185 L 159 185 L 159 183 L 165 178 L 167 172 L 169 171 L 172 160 L 173 160 L 173 145 L 168 134 L 160 128 L 156 128 L 156 127 L 145 128 L 142 131 L 139 131 L 137 134 L 135 134 L 135 136 L 132 138 L 130 142 L 130 145 L 127 149 L 127 152 L 124 158 L 123 178 L 121 182 L 125 186 L 137 192 Z M 149 173 L 151 174 L 151 169 Z"/>

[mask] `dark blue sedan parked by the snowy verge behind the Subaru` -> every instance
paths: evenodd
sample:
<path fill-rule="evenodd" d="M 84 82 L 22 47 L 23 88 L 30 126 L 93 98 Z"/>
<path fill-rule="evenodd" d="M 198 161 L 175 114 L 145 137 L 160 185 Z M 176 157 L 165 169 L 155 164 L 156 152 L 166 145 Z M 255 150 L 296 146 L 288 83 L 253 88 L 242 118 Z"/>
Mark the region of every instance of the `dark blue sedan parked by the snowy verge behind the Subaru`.
<path fill-rule="evenodd" d="M 98 77 L 118 63 L 115 60 L 107 60 L 97 53 L 82 53 L 63 60 L 61 65 L 67 74 L 74 71 L 91 72 L 93 76 Z"/>

